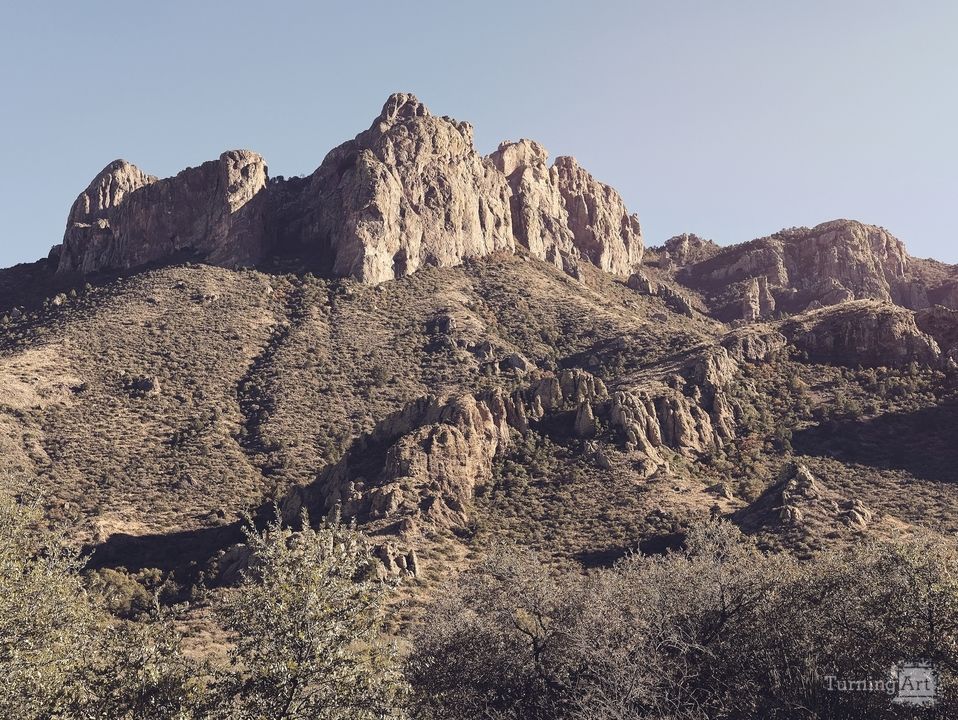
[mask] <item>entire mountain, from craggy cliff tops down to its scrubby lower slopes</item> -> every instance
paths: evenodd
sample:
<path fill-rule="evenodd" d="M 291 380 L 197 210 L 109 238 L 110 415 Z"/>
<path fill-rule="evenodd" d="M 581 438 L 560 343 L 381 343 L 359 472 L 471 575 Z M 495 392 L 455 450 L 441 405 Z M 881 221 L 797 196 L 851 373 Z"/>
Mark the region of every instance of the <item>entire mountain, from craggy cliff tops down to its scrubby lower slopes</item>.
<path fill-rule="evenodd" d="M 848 220 L 645 248 L 573 158 L 396 94 L 308 177 L 107 165 L 0 271 L 0 472 L 187 594 L 274 503 L 414 597 L 501 540 L 592 567 L 713 515 L 799 555 L 947 535 L 956 283 Z"/>

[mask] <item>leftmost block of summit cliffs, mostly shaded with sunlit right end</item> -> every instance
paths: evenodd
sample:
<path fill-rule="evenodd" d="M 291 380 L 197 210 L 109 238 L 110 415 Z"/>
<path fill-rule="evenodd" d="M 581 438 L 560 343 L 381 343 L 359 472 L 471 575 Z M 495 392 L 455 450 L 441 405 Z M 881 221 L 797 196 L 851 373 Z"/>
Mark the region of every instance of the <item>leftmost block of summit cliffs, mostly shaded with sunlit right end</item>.
<path fill-rule="evenodd" d="M 199 255 L 235 267 L 265 250 L 267 169 L 248 150 L 157 180 L 122 160 L 110 163 L 80 194 L 54 255 L 58 271 L 126 270 Z"/>

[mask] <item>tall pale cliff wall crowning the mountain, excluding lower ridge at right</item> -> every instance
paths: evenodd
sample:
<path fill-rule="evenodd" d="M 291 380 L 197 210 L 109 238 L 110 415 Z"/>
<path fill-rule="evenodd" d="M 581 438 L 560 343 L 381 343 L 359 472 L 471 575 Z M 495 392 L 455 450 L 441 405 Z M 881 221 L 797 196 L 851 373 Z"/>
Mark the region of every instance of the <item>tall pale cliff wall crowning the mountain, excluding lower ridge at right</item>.
<path fill-rule="evenodd" d="M 308 178 L 270 181 L 249 151 L 165 180 L 112 163 L 70 212 L 59 271 L 185 252 L 229 267 L 288 252 L 376 284 L 523 246 L 570 273 L 581 259 L 628 275 L 642 259 L 637 218 L 574 159 L 548 168 L 546 157 L 521 141 L 483 158 L 468 123 L 398 93 Z"/>

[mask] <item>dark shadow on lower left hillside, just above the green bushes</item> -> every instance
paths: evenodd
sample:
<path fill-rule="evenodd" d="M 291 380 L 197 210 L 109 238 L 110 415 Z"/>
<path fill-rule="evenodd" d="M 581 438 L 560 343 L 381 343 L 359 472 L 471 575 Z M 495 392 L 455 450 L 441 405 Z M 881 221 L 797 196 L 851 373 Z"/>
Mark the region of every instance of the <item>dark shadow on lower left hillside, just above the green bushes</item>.
<path fill-rule="evenodd" d="M 217 552 L 243 541 L 242 525 L 235 522 L 214 528 L 184 530 L 156 535 L 111 535 L 105 542 L 87 548 L 89 568 L 124 567 L 181 571 L 202 567 Z"/>

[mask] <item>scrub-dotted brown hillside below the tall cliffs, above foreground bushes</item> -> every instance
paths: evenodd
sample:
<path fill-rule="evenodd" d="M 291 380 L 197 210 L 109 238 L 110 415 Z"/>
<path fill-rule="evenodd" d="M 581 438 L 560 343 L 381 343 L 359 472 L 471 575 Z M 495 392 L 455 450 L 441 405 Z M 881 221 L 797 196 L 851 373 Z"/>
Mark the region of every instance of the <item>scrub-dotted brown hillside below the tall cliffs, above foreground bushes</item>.
<path fill-rule="evenodd" d="M 499 540 L 602 564 L 711 513 L 799 552 L 958 530 L 954 371 L 910 311 L 729 330 L 584 278 L 502 255 L 374 287 L 205 265 L 117 279 L 5 327 L 4 474 L 133 568 L 205 566 L 238 539 L 217 528 L 300 496 L 313 517 L 358 518 L 386 565 L 415 551 L 427 578 Z M 492 417 L 496 392 L 521 397 L 525 425 Z M 499 427 L 467 438 L 470 421 L 441 410 L 395 421 L 430 395 L 477 398 Z M 465 439 L 417 435 L 443 425 Z M 827 512 L 782 510 L 796 462 L 829 488 Z M 852 503 L 867 509 L 854 523 Z"/>

